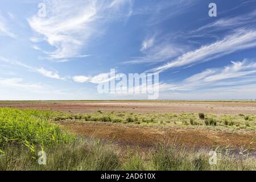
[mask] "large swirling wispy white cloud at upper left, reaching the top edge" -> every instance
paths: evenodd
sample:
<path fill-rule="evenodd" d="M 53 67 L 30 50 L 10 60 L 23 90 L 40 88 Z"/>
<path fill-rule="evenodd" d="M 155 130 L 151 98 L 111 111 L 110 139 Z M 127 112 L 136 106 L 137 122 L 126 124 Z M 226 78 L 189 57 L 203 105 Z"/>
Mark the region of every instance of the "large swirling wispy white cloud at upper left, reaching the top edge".
<path fill-rule="evenodd" d="M 75 3 L 64 0 L 45 3 L 47 16 L 42 18 L 34 15 L 28 18 L 28 23 L 35 32 L 43 35 L 44 39 L 56 48 L 53 52 L 47 52 L 50 59 L 88 56 L 80 55 L 80 51 L 82 46 L 88 46 L 89 38 L 102 34 L 103 27 L 100 26 L 116 18 L 115 13 L 118 13 L 120 6 L 132 6 L 128 0 L 77 0 Z"/>

